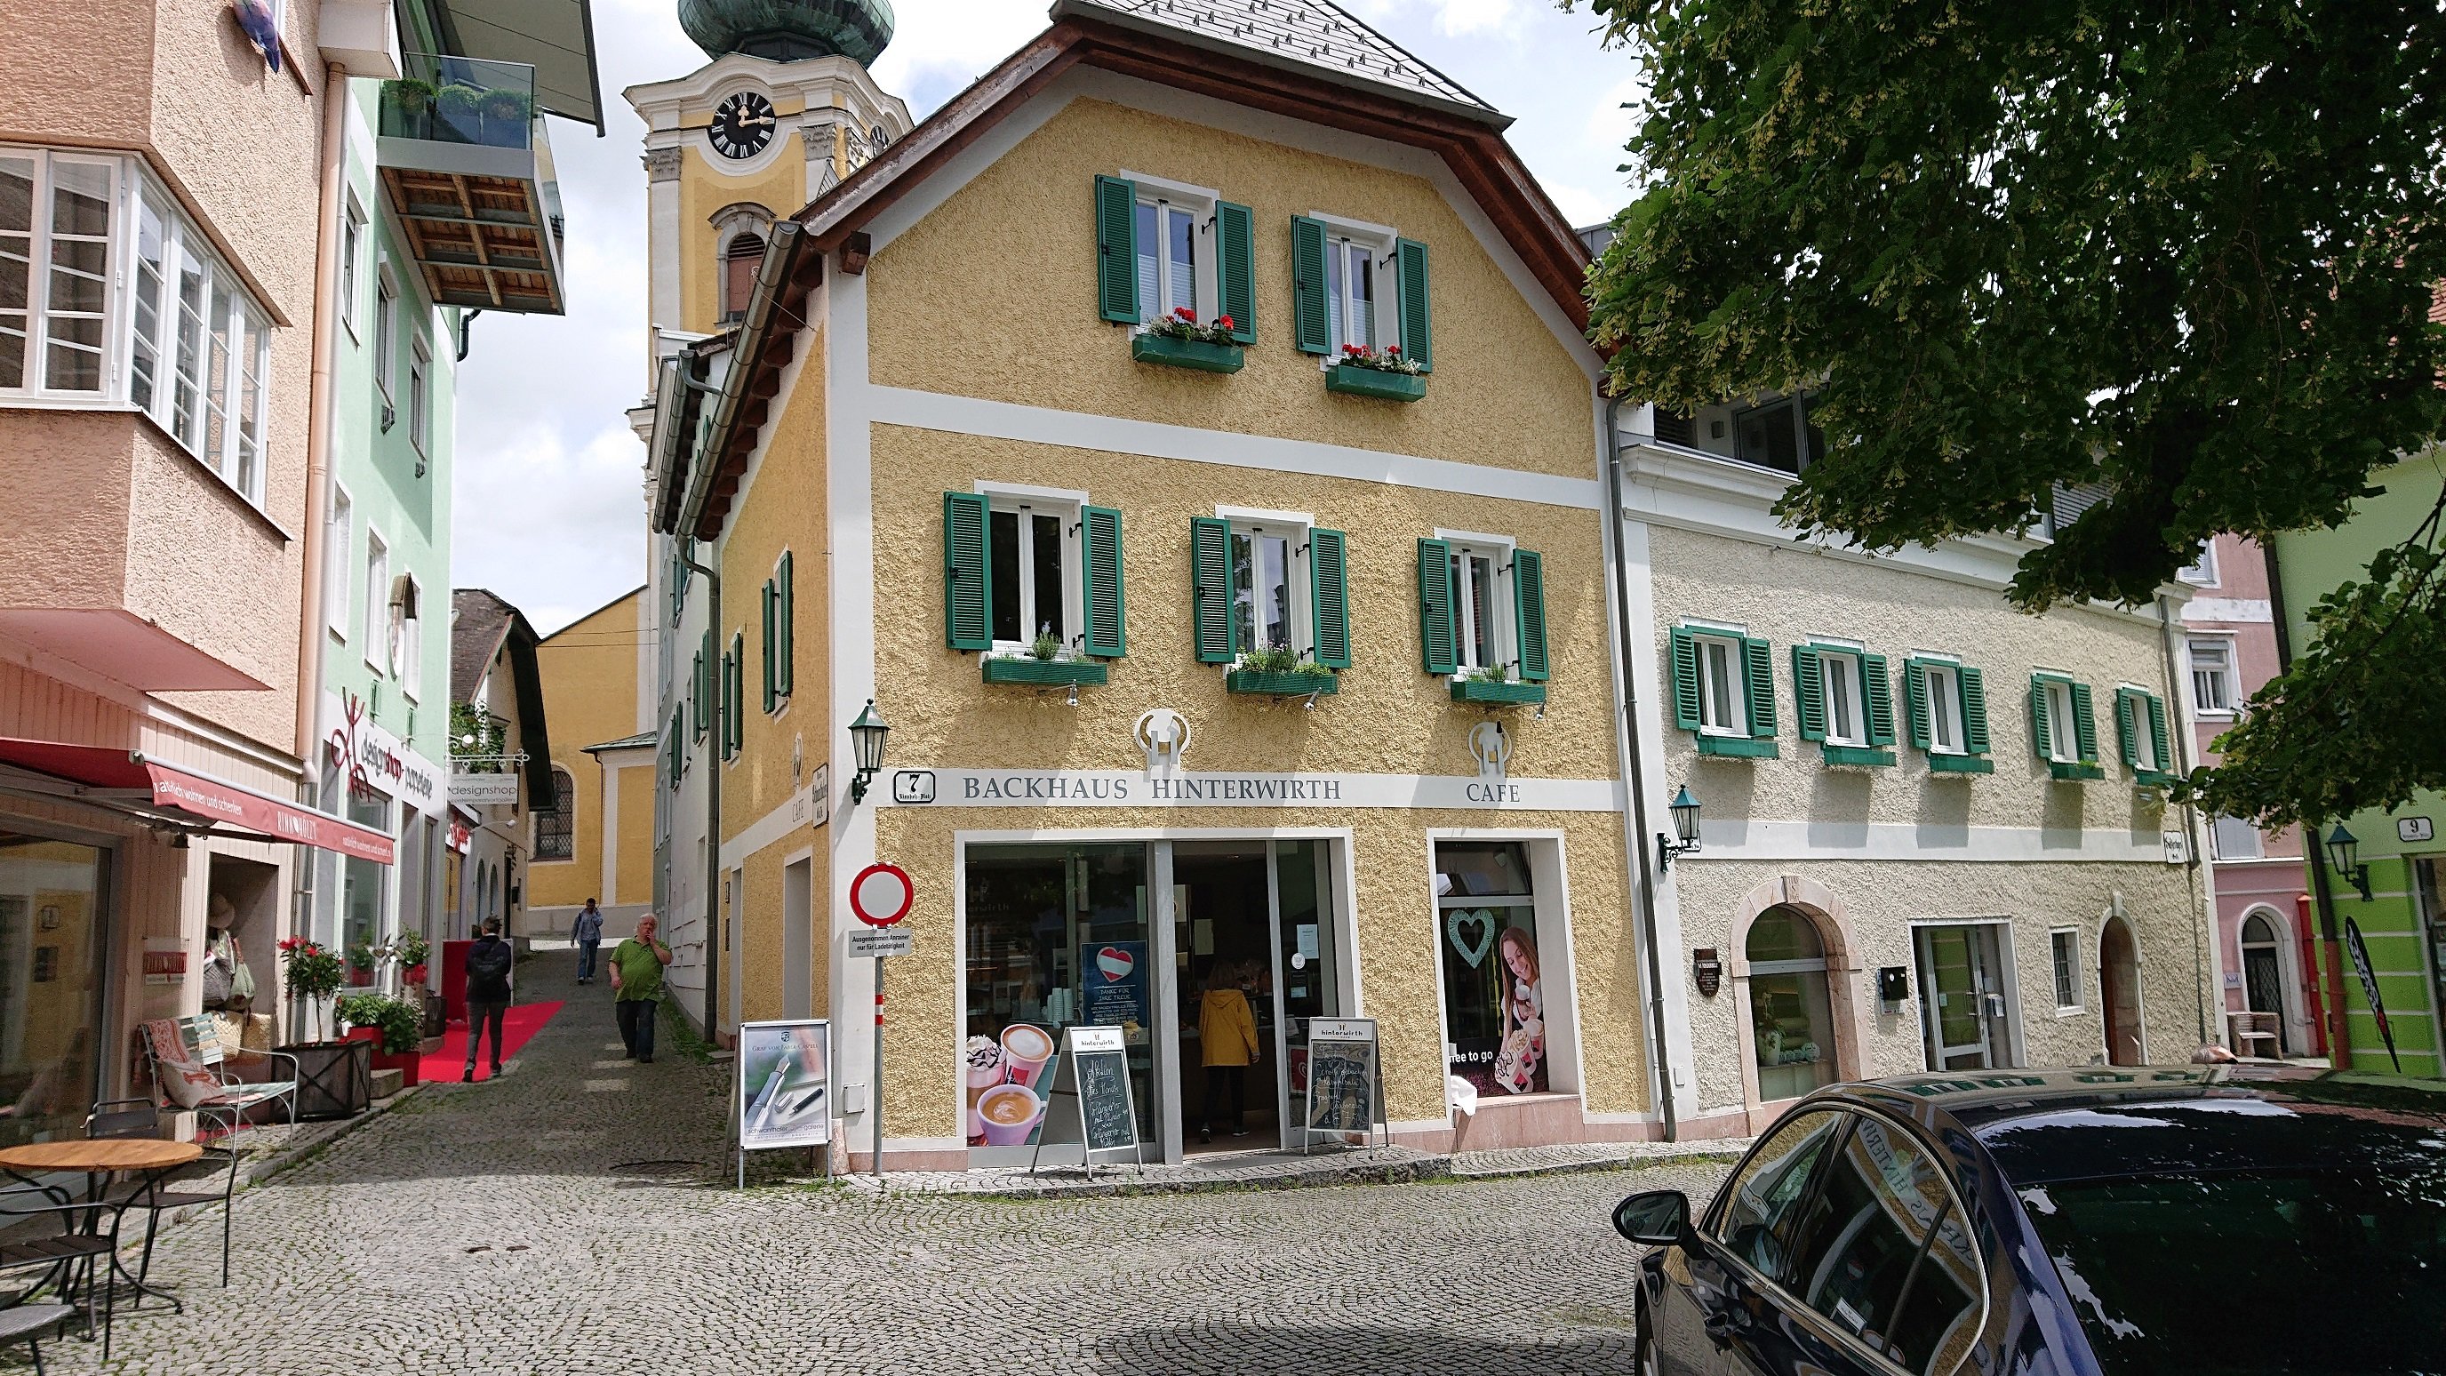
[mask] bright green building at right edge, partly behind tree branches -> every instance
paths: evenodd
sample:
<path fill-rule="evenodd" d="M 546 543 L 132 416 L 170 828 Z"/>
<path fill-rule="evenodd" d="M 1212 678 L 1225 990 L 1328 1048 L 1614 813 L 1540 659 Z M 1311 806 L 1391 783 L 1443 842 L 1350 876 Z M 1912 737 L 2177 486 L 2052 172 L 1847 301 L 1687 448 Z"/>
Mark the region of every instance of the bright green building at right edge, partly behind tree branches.
<path fill-rule="evenodd" d="M 2370 477 L 2378 497 L 2353 504 L 2343 526 L 2277 536 L 2270 563 L 2277 575 L 2277 627 L 2287 656 L 2309 644 L 2309 610 L 2346 580 L 2358 580 L 2370 556 L 2407 539 L 2446 485 L 2446 448 L 2385 468 Z M 2404 666 L 2407 673 L 2422 671 Z M 2395 810 L 2363 810 L 2319 823 L 2319 837 L 2336 825 L 2355 840 L 2355 869 L 2338 872 L 2326 845 L 2307 845 L 2314 928 L 2326 948 L 2319 957 L 2329 996 L 2341 984 L 2346 1033 L 2358 1070 L 2390 1070 L 2380 1016 L 2358 972 L 2346 923 L 2360 930 L 2370 984 L 2385 1004 L 2395 1033 L 2395 1058 L 2404 1075 L 2446 1075 L 2446 793 L 2419 793 Z M 2368 896 L 2363 896 L 2363 884 Z"/>

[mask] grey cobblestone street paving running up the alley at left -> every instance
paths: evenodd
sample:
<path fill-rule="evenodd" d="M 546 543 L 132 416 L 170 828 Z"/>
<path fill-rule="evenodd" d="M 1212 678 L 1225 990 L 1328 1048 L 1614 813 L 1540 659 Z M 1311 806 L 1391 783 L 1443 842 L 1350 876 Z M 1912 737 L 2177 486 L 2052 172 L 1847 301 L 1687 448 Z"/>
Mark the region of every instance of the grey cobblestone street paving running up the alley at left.
<path fill-rule="evenodd" d="M 108 1371 L 1629 1371 L 1607 1214 L 1722 1165 L 1103 1200 L 724 1180 L 726 1075 L 621 1060 L 567 999 L 499 1085 L 433 1085 L 164 1236 L 188 1298 L 120 1312 Z M 54 1371 L 100 1347 L 46 1344 Z"/>

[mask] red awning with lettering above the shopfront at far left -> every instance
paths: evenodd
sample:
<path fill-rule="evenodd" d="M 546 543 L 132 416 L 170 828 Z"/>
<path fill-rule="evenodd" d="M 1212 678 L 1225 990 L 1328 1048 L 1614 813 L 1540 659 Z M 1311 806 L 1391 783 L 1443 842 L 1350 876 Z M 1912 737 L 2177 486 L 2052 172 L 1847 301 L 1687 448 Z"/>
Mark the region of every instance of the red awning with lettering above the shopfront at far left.
<path fill-rule="evenodd" d="M 147 759 L 142 752 L 0 737 L 0 764 L 73 783 L 76 788 L 61 791 L 64 798 L 117 806 L 122 810 L 179 813 L 174 820 L 181 823 L 201 818 L 230 828 L 230 832 L 294 840 L 372 859 L 374 864 L 391 864 L 396 857 L 391 837 L 374 828 L 303 803 L 284 803 L 245 783 L 227 783 L 193 769 L 161 764 L 159 759 Z"/>

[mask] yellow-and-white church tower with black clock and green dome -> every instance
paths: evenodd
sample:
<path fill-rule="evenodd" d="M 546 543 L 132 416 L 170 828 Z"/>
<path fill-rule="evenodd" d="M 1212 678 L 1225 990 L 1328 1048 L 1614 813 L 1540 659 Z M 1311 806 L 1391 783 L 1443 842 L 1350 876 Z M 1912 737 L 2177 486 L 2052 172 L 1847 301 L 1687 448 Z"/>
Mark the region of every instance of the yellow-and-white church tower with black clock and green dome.
<path fill-rule="evenodd" d="M 910 113 L 866 71 L 893 39 L 888 0 L 680 0 L 680 29 L 712 61 L 624 95 L 646 120 L 651 326 L 709 335 L 746 311 L 773 220 L 866 166 Z"/>

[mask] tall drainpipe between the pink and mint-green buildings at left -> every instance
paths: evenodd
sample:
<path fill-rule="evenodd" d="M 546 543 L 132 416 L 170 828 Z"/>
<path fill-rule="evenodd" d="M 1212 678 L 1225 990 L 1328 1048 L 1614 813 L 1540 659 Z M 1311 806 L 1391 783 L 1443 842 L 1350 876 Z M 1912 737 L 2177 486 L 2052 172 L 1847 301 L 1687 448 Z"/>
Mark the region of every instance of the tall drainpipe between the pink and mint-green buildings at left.
<path fill-rule="evenodd" d="M 323 169 L 316 191 L 316 252 L 313 252 L 313 362 L 306 380 L 306 529 L 301 539 L 298 585 L 298 732 L 296 754 L 306 766 L 298 796 L 320 806 L 316 793 L 316 737 L 323 720 L 323 512 L 330 504 L 330 451 L 335 406 L 333 362 L 340 353 L 340 196 L 342 154 L 347 152 L 347 69 L 323 64 Z M 313 872 L 320 857 L 311 850 L 291 867 L 296 886 L 289 899 L 294 933 L 313 925 L 316 884 Z M 291 1009 L 294 1011 L 294 1009 Z"/>

